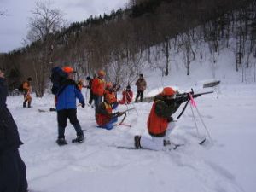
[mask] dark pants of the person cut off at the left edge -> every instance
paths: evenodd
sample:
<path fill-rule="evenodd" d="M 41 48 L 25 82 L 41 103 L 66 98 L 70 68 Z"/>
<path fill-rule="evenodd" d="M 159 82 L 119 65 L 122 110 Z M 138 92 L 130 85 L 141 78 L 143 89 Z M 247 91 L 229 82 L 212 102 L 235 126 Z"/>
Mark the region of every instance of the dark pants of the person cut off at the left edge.
<path fill-rule="evenodd" d="M 19 150 L 11 149 L 0 154 L 0 191 L 26 192 L 26 165 Z"/>

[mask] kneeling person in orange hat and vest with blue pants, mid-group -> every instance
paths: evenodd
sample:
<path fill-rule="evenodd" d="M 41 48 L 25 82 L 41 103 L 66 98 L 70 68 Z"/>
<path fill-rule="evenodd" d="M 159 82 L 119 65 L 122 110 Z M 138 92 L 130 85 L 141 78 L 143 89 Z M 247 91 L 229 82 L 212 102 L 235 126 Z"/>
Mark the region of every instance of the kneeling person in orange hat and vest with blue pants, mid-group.
<path fill-rule="evenodd" d="M 118 121 L 118 117 L 124 113 L 112 113 L 113 103 L 116 102 L 116 99 L 113 95 L 108 94 L 105 97 L 105 102 L 102 102 L 96 112 L 96 122 L 99 127 L 102 127 L 107 130 L 113 129 L 113 123 Z"/>

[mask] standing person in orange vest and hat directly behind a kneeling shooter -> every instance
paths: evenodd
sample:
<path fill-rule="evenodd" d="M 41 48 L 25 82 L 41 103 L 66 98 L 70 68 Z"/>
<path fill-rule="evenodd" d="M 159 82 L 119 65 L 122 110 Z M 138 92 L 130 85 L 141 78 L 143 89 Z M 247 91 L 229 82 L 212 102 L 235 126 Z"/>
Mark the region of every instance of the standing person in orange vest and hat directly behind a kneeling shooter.
<path fill-rule="evenodd" d="M 105 90 L 105 77 L 106 73 L 102 70 L 98 71 L 98 77 L 92 80 L 91 90 L 94 96 L 95 112 L 97 112 L 98 107 L 103 99 L 103 94 Z"/>

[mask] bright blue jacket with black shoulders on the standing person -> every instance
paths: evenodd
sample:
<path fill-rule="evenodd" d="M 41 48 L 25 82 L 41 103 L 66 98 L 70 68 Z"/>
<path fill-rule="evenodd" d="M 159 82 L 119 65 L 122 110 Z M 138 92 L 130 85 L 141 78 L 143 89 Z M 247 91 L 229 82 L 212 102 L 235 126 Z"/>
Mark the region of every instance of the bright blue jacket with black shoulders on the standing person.
<path fill-rule="evenodd" d="M 78 89 L 77 85 L 73 80 L 67 80 L 61 90 L 58 92 L 57 96 L 57 111 L 63 109 L 77 108 L 76 98 L 79 99 L 79 102 L 84 102 L 84 96 Z"/>

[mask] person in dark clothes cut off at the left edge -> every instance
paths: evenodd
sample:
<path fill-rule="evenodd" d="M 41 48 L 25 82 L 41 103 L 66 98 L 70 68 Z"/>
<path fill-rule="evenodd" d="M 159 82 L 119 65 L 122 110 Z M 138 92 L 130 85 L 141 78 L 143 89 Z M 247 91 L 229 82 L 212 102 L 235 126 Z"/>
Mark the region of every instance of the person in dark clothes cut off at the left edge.
<path fill-rule="evenodd" d="M 8 96 L 4 73 L 0 70 L 0 191 L 26 192 L 26 165 L 20 157 L 17 125 L 6 105 Z"/>

